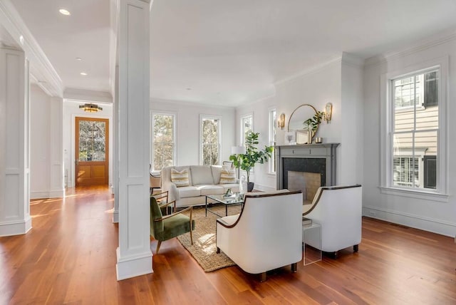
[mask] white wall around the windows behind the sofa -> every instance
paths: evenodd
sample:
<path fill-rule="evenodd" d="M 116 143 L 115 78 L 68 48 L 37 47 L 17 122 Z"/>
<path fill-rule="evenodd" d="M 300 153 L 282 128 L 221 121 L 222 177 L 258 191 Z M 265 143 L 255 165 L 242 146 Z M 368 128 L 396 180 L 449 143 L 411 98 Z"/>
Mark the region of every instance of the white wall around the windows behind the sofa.
<path fill-rule="evenodd" d="M 234 108 L 152 99 L 150 110 L 176 115 L 176 165 L 199 164 L 199 115 L 222 116 L 220 160 L 229 160 L 231 147 L 235 145 Z"/>

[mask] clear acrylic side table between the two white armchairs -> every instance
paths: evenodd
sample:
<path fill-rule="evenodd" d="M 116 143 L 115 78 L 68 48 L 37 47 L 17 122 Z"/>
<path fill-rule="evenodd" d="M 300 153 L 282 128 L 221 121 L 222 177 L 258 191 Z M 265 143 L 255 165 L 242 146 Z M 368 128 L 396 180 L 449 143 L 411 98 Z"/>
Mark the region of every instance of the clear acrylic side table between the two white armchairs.
<path fill-rule="evenodd" d="M 304 266 L 321 261 L 321 225 L 312 222 L 302 226 Z"/>

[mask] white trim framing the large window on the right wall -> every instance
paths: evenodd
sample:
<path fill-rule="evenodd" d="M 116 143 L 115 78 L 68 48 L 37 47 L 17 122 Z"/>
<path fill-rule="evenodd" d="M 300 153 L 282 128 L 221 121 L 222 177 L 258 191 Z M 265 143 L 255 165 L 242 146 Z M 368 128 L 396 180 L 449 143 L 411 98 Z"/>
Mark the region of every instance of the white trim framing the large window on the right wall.
<path fill-rule="evenodd" d="M 449 56 L 435 58 L 431 61 L 418 63 L 407 68 L 385 73 L 380 77 L 380 192 L 388 195 L 413 197 L 423 200 L 434 200 L 447 202 L 449 200 L 449 177 L 448 177 L 448 88 L 449 78 Z M 393 186 L 392 168 L 393 161 L 391 148 L 393 147 L 391 130 L 393 130 L 393 109 L 391 103 L 391 80 L 400 78 L 411 73 L 426 71 L 430 68 L 440 68 L 439 81 L 439 128 L 437 130 L 437 189 L 416 190 L 404 189 Z"/>

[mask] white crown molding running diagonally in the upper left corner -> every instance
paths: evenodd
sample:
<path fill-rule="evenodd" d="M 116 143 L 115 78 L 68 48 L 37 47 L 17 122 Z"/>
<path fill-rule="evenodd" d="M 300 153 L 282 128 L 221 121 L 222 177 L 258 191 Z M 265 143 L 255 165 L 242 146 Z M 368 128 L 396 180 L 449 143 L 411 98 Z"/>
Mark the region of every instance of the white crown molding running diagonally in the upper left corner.
<path fill-rule="evenodd" d="M 31 81 L 36 81 L 48 95 L 62 97 L 63 83 L 60 76 L 10 0 L 0 0 L 0 24 L 24 51 L 30 63 Z"/>

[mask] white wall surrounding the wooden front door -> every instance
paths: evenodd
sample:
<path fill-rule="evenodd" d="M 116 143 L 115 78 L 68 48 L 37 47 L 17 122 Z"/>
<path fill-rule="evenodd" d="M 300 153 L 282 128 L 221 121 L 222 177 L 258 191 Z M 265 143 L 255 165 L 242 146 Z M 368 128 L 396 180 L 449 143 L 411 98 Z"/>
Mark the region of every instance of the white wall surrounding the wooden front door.
<path fill-rule="evenodd" d="M 84 102 L 75 100 L 63 101 L 63 161 L 65 164 L 66 183 L 68 187 L 75 186 L 75 124 L 76 116 L 83 118 L 107 118 L 109 119 L 109 185 L 113 183 L 113 105 L 98 103 L 102 111 L 98 113 L 87 113 L 79 109 Z"/>

